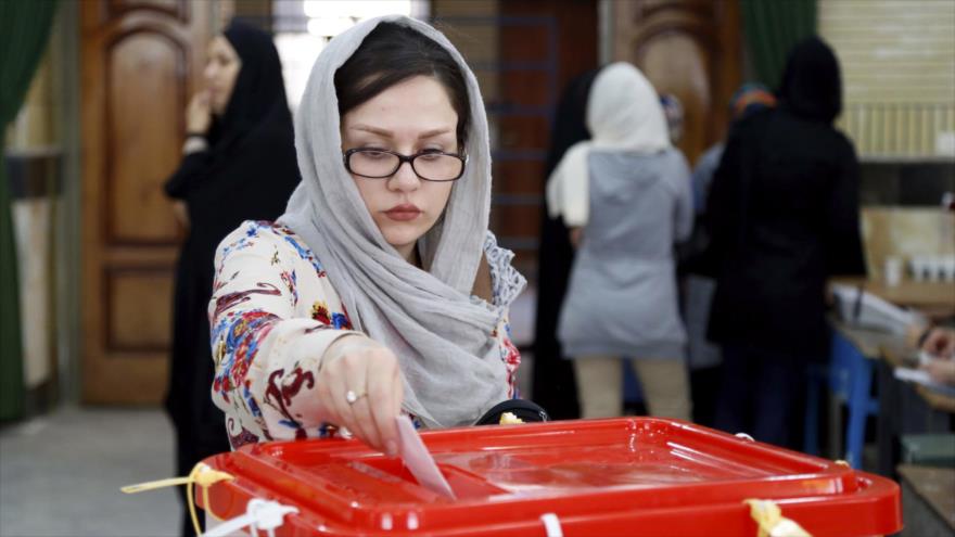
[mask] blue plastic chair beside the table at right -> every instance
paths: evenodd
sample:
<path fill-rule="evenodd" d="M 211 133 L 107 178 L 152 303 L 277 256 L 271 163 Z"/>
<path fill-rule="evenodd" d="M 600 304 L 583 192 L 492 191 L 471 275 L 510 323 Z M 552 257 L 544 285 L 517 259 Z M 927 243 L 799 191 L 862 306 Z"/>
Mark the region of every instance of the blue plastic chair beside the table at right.
<path fill-rule="evenodd" d="M 865 445 L 866 419 L 879 413 L 879 400 L 869 395 L 873 386 L 873 360 L 860 353 L 844 335 L 833 331 L 829 366 L 811 368 L 808 375 L 803 451 L 819 453 L 819 385 L 825 383 L 849 408 L 845 461 L 853 468 L 860 468 Z"/>

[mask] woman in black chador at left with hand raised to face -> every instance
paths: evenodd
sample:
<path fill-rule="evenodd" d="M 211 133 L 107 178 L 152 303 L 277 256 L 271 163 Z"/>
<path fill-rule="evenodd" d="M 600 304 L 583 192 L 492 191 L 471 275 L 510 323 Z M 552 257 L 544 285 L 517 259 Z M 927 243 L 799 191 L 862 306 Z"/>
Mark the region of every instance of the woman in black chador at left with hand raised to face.
<path fill-rule="evenodd" d="M 213 40 L 208 55 L 207 88 L 187 111 L 182 163 L 165 184 L 166 194 L 184 204 L 189 222 L 176 267 L 166 396 L 179 475 L 230 449 L 225 417 L 211 396 L 215 365 L 207 306 L 216 246 L 244 220 L 281 215 L 300 181 L 292 116 L 271 38 L 233 22 Z M 188 516 L 182 528 L 192 535 Z"/>

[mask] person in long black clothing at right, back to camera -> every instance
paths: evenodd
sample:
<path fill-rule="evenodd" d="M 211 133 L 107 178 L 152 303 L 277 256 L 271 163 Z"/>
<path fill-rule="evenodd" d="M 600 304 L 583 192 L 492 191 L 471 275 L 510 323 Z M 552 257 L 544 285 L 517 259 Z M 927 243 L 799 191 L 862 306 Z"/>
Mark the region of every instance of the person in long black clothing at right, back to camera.
<path fill-rule="evenodd" d="M 790 52 L 777 108 L 731 130 L 706 212 L 716 290 L 708 335 L 723 350 L 715 425 L 794 447 L 806 368 L 828 356 L 826 281 L 864 274 L 858 162 L 832 127 L 839 64 L 818 38 Z"/>

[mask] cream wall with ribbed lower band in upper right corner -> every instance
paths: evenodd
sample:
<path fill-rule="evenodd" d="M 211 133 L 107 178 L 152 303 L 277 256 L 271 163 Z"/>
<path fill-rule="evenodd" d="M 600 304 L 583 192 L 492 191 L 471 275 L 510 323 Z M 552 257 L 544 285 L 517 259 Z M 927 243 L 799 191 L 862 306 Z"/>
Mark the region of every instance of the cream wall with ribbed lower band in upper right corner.
<path fill-rule="evenodd" d="M 842 65 L 839 126 L 858 153 L 955 156 L 955 2 L 827 0 L 818 17 Z"/>

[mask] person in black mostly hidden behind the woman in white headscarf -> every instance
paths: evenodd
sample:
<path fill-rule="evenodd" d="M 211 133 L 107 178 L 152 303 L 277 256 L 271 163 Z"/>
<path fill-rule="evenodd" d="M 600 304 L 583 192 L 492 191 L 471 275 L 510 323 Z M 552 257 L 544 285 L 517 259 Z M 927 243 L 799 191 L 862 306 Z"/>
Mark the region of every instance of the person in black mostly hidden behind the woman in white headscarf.
<path fill-rule="evenodd" d="M 545 180 L 571 145 L 590 138 L 585 118 L 590 86 L 597 73 L 599 69 L 594 69 L 571 79 L 561 94 L 550 131 Z M 540 215 L 532 386 L 534 400 L 546 408 L 551 418 L 570 420 L 580 418 L 577 388 L 573 363 L 563 359 L 563 350 L 557 340 L 557 320 L 566 294 L 574 248 L 563 220 L 550 218 L 546 210 L 542 210 Z"/>

